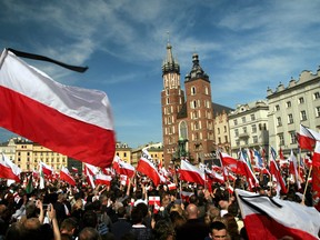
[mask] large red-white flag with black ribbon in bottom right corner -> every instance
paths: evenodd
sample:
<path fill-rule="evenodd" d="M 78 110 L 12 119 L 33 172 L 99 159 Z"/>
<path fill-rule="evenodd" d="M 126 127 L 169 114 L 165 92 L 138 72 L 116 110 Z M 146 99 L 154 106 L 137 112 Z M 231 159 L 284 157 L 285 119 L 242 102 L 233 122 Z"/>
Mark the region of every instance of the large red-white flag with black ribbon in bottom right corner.
<path fill-rule="evenodd" d="M 320 213 L 316 208 L 240 189 L 236 196 L 249 239 L 319 239 Z"/>

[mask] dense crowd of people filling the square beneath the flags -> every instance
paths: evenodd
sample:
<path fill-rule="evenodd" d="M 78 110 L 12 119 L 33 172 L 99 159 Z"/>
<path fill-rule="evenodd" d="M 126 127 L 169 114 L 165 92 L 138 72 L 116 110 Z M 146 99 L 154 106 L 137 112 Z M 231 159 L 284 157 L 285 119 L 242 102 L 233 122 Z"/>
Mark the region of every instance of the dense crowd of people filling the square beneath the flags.
<path fill-rule="evenodd" d="M 237 188 L 244 188 L 238 178 Z M 204 186 L 184 182 L 178 189 L 154 188 L 146 177 L 121 184 L 114 176 L 110 186 L 93 189 L 86 178 L 77 178 L 77 186 L 57 179 L 46 188 L 7 186 L 1 181 L 0 239 L 47 240 L 210 240 L 248 239 L 236 196 L 227 183 Z M 181 192 L 189 191 L 188 198 Z M 256 189 L 260 194 L 274 196 L 272 188 Z M 149 197 L 160 197 L 150 204 Z M 292 184 L 282 198 L 301 202 Z M 307 204 L 311 192 L 307 191 Z M 292 239 L 283 236 L 282 239 Z"/>

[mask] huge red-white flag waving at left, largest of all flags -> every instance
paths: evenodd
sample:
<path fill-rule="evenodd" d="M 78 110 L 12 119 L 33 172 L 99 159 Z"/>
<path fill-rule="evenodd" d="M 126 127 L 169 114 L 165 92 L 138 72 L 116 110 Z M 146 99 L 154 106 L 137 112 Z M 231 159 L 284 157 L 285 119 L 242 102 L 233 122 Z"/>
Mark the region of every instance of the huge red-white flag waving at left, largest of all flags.
<path fill-rule="evenodd" d="M 7 49 L 0 63 L 0 127 L 82 162 L 112 163 L 116 136 L 104 92 L 61 84 Z"/>

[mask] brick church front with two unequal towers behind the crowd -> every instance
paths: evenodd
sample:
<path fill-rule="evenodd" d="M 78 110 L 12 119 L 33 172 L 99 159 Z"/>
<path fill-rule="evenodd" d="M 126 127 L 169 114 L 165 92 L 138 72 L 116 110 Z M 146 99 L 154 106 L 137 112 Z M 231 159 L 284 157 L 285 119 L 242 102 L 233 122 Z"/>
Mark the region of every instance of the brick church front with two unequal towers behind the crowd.
<path fill-rule="evenodd" d="M 187 158 L 193 163 L 216 150 L 213 108 L 209 76 L 202 70 L 197 53 L 192 56 L 191 71 L 184 78 L 184 91 L 180 86 L 180 66 L 167 44 L 162 63 L 163 89 L 161 91 L 163 159 L 168 166 L 186 146 Z M 183 158 L 183 157 L 182 157 Z M 179 161 L 179 159 L 177 159 Z"/>

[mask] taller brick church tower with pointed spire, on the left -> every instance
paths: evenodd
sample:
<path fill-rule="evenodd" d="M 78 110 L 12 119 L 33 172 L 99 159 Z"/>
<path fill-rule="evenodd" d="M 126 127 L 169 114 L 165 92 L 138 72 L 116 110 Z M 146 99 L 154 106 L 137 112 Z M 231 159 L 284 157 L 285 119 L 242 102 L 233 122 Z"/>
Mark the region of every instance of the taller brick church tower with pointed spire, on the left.
<path fill-rule="evenodd" d="M 178 151 L 179 131 L 177 116 L 184 103 L 184 92 L 180 87 L 180 66 L 173 58 L 168 42 L 167 57 L 162 63 L 163 89 L 161 91 L 163 159 L 168 166 Z"/>

